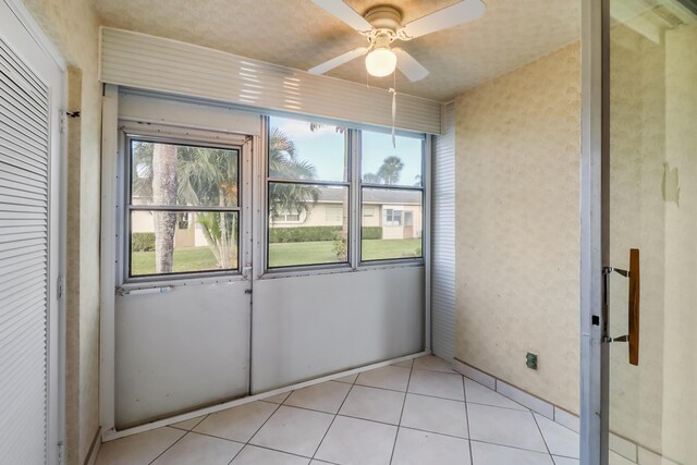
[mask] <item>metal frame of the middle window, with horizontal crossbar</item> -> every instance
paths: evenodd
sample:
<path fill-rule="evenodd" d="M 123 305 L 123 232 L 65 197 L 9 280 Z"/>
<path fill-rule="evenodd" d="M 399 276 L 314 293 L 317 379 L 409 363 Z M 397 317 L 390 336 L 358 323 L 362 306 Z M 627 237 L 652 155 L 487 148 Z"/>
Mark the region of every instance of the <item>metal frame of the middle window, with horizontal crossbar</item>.
<path fill-rule="evenodd" d="M 356 130 L 345 126 L 346 133 L 344 134 L 344 156 L 345 156 L 345 170 L 346 170 L 346 179 L 343 181 L 321 181 L 321 180 L 293 180 L 285 178 L 277 178 L 271 176 L 269 173 L 269 154 L 271 149 L 270 145 L 270 134 L 271 134 L 271 118 L 283 118 L 289 120 L 302 121 L 302 122 L 319 122 L 325 124 L 338 125 L 331 121 L 320 121 L 314 119 L 303 118 L 302 115 L 276 115 L 276 114 L 267 114 L 264 117 L 264 130 L 262 134 L 266 138 L 266 147 L 264 150 L 264 163 L 262 163 L 262 182 L 264 182 L 264 206 L 265 206 L 265 215 L 264 215 L 264 224 L 265 224 L 265 246 L 264 246 L 264 272 L 269 274 L 282 274 L 288 272 L 295 271 L 305 271 L 305 270 L 327 270 L 327 269 L 352 269 L 353 268 L 353 241 L 352 241 L 352 231 L 353 231 L 353 162 L 354 162 L 354 133 Z M 313 185 L 318 187 L 342 187 L 346 188 L 346 209 L 348 215 L 346 216 L 346 259 L 344 261 L 329 261 L 329 262 L 319 262 L 319 264 L 303 264 L 303 265 L 288 265 L 288 266 L 279 266 L 271 267 L 269 265 L 269 260 L 271 257 L 270 246 L 271 246 L 271 221 L 270 221 L 270 196 L 269 196 L 269 187 L 272 183 L 276 184 L 295 184 L 295 185 Z M 343 206 L 343 203 L 341 204 Z"/>

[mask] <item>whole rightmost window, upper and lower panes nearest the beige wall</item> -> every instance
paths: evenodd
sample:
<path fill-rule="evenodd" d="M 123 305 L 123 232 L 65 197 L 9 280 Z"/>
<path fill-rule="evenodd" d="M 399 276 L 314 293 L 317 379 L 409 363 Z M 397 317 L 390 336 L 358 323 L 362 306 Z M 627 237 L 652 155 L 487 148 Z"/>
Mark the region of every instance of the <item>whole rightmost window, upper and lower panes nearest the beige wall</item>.
<path fill-rule="evenodd" d="M 424 140 L 360 133 L 362 261 L 423 256 Z"/>

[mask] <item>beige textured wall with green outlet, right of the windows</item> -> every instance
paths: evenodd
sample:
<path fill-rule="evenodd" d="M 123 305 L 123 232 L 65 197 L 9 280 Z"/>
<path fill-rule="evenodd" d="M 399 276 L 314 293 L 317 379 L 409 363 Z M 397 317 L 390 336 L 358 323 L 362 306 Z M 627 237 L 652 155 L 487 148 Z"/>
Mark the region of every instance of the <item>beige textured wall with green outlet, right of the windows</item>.
<path fill-rule="evenodd" d="M 455 101 L 455 357 L 574 413 L 579 101 L 578 44 Z"/>

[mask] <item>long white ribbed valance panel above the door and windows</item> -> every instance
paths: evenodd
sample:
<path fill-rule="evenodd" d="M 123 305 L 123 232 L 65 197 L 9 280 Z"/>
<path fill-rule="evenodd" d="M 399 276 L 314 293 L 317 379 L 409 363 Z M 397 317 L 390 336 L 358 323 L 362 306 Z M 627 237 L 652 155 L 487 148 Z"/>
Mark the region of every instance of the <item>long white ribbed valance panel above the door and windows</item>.
<path fill-rule="evenodd" d="M 363 84 L 109 27 L 101 29 L 100 52 L 99 77 L 105 83 L 392 126 L 392 96 L 387 89 L 367 89 Z M 398 94 L 396 102 L 398 129 L 440 133 L 440 102 L 405 94 Z"/>

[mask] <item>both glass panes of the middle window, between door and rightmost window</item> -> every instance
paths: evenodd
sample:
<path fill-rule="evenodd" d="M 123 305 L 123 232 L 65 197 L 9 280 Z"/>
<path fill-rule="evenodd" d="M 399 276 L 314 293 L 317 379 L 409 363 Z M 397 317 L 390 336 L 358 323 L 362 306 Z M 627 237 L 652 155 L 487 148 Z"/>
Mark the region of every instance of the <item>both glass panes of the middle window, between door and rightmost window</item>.
<path fill-rule="evenodd" d="M 348 130 L 271 117 L 268 134 L 267 267 L 347 262 Z"/>

